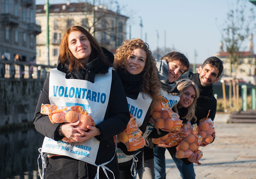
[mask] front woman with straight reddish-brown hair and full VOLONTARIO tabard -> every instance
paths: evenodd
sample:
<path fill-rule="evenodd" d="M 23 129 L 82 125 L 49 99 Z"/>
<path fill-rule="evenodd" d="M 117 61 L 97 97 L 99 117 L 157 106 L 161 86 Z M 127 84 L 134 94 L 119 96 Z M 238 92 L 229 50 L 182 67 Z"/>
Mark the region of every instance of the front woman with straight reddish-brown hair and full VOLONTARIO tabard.
<path fill-rule="evenodd" d="M 45 178 L 119 178 L 113 136 L 125 130 L 130 114 L 122 83 L 110 67 L 113 61 L 113 54 L 84 28 L 66 30 L 59 64 L 45 80 L 33 121 L 45 136 Z M 80 121 L 52 124 L 40 113 L 42 104 L 82 106 L 95 126 L 75 128 Z"/>

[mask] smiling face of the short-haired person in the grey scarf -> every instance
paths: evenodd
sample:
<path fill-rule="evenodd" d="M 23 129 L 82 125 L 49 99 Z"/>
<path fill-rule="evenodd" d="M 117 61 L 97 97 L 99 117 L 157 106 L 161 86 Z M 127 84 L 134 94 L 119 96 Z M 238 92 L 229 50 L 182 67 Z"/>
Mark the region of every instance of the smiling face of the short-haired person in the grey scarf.
<path fill-rule="evenodd" d="M 181 64 L 179 61 L 173 61 L 168 63 L 169 70 L 169 83 L 176 81 L 185 71 L 185 65 Z"/>

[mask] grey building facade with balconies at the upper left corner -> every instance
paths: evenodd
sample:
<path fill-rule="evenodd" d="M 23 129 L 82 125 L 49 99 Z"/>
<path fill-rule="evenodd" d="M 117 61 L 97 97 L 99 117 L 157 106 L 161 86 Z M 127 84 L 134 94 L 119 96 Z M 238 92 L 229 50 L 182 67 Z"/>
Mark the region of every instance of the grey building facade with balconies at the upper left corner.
<path fill-rule="evenodd" d="M 20 54 L 22 61 L 35 62 L 36 35 L 41 27 L 35 24 L 35 0 L 0 0 L 0 54 L 13 61 Z"/>

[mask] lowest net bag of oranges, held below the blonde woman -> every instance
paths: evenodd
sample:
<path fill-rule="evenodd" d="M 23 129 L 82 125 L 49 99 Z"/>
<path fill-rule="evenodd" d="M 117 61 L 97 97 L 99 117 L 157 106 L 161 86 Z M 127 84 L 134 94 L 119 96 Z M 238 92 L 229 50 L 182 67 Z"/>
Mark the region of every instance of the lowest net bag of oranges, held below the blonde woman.
<path fill-rule="evenodd" d="M 202 142 L 202 137 L 189 134 L 180 141 L 176 147 L 177 158 L 189 158 L 194 151 L 197 151 Z"/>

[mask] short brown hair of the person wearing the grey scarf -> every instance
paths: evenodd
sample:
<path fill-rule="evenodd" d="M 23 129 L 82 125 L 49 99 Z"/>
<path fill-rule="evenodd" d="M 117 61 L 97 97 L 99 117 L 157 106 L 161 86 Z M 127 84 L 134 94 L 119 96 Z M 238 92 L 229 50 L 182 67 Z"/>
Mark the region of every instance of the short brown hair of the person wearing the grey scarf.
<path fill-rule="evenodd" d="M 187 59 L 187 57 L 180 53 L 180 52 L 170 52 L 168 54 L 166 54 L 165 56 L 163 56 L 160 60 L 165 60 L 166 62 L 174 62 L 174 61 L 178 61 L 181 64 L 183 64 L 185 66 L 184 72 L 187 72 L 187 70 L 189 69 L 190 63 Z"/>

